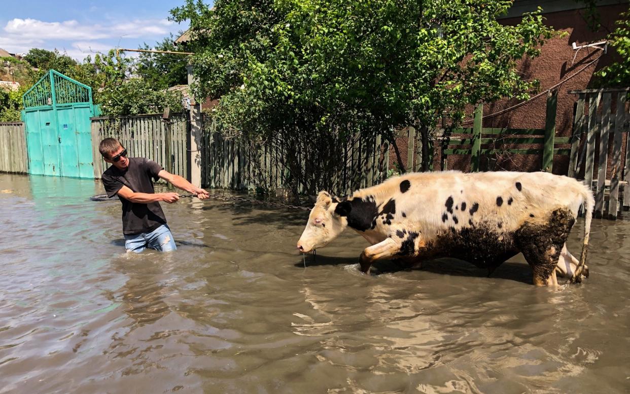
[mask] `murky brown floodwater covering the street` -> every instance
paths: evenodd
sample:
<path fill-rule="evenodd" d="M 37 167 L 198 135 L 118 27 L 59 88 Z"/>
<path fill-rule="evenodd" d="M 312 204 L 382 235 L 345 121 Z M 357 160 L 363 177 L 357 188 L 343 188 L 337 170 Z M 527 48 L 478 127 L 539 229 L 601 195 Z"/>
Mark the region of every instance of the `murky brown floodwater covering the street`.
<path fill-rule="evenodd" d="M 629 220 L 593 220 L 584 283 L 538 288 L 520 255 L 364 275 L 350 230 L 304 267 L 306 212 L 221 201 L 164 204 L 178 250 L 125 254 L 100 193 L 0 174 L 0 393 L 630 390 Z"/>

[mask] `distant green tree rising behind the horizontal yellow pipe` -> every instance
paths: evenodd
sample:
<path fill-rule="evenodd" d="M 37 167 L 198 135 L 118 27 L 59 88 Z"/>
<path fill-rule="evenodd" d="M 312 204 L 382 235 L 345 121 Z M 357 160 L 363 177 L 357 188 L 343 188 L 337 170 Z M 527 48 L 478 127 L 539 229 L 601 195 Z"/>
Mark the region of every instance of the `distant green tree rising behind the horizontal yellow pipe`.
<path fill-rule="evenodd" d="M 180 31 L 180 35 L 181 33 L 183 32 Z M 164 40 L 156 43 L 154 48 L 144 43 L 144 47 L 140 49 L 181 52 L 181 48 L 175 47 L 175 44 L 173 44 L 175 38 L 171 33 L 169 37 L 164 37 Z M 140 52 L 136 62 L 135 73 L 152 86 L 166 89 L 167 87 L 188 83 L 187 64 L 188 57 L 185 55 Z"/>

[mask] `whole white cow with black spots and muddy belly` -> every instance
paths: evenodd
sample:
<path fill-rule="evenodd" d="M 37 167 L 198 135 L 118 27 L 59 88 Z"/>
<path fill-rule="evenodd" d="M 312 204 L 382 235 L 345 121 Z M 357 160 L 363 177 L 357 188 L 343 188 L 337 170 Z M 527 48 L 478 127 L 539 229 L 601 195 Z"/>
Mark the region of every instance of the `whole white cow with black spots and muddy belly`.
<path fill-rule="evenodd" d="M 566 240 L 580 207 L 586 223 L 580 261 Z M 423 172 L 388 179 L 343 201 L 321 191 L 297 242 L 306 253 L 351 227 L 372 246 L 359 258 L 421 261 L 455 257 L 492 273 L 522 252 L 534 284 L 558 284 L 556 273 L 580 281 L 586 259 L 593 194 L 573 178 L 547 172 Z"/>

